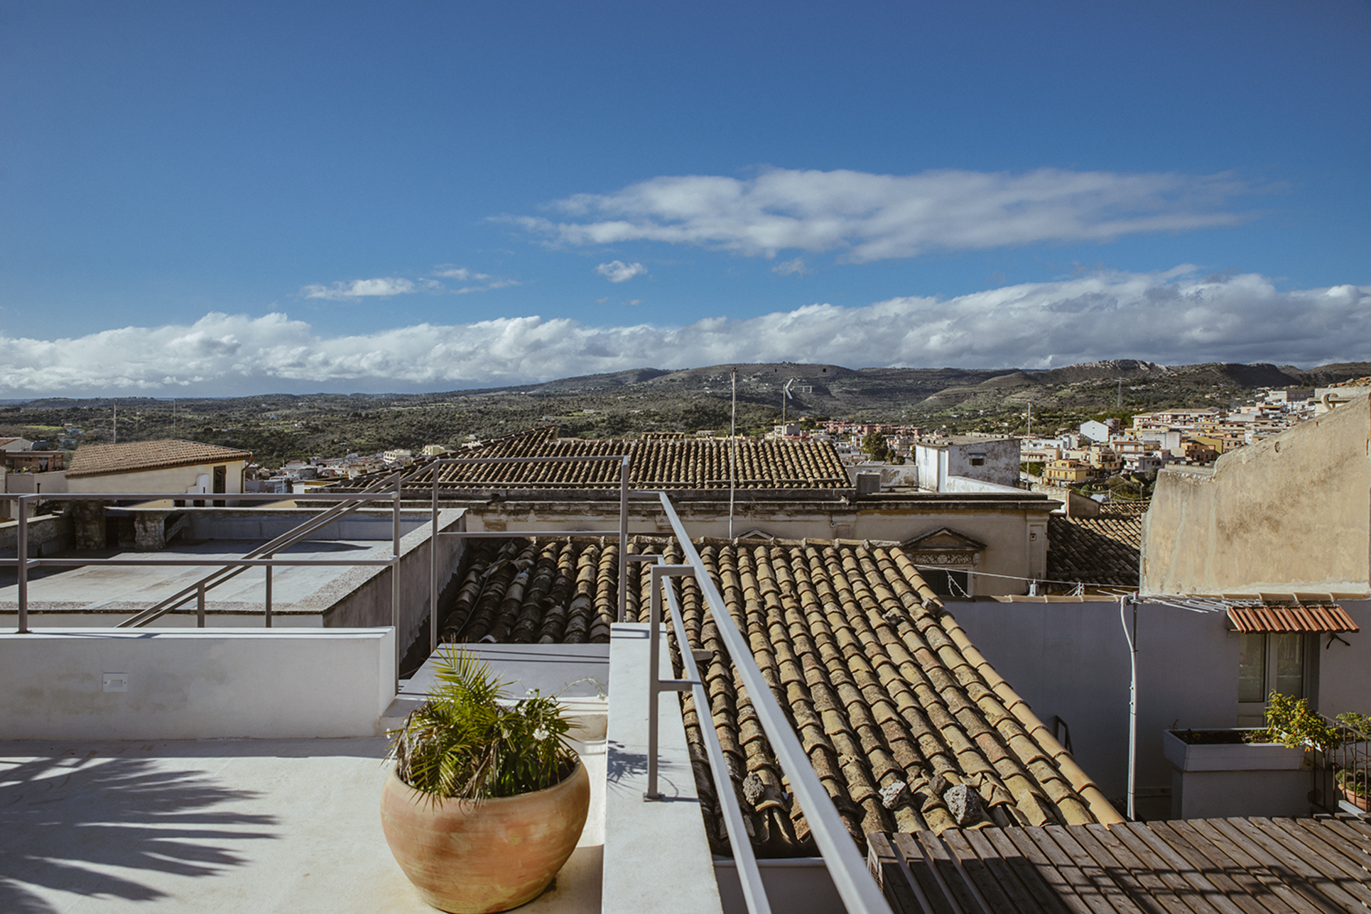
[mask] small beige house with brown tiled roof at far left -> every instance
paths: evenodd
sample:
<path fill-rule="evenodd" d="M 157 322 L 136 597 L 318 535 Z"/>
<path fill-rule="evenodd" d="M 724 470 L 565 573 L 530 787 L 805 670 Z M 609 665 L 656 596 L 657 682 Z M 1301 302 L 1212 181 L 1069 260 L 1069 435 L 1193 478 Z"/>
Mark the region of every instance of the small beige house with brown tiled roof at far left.
<path fill-rule="evenodd" d="M 67 491 L 228 495 L 243 492 L 251 459 L 248 451 L 178 439 L 92 444 L 71 458 Z"/>

